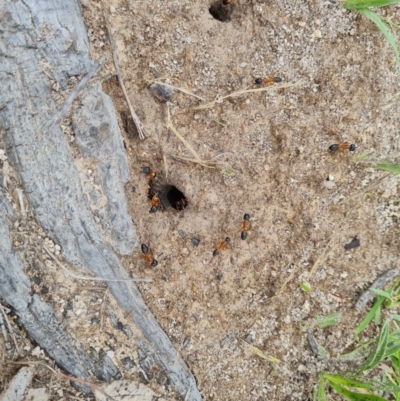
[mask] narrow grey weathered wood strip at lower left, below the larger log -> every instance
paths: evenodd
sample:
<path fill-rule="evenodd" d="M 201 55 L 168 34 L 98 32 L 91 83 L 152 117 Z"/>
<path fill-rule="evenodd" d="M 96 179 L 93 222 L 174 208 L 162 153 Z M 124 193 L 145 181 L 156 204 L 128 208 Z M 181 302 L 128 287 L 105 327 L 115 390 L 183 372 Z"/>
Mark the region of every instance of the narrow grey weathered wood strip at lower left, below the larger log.
<path fill-rule="evenodd" d="M 4 189 L 0 188 L 0 298 L 15 309 L 27 333 L 68 372 L 82 379 L 88 379 L 91 372 L 101 380 L 119 378 L 120 373 L 111 359 L 104 356 L 102 361 L 92 361 L 76 345 L 51 307 L 37 295 L 29 295 L 30 283 L 23 264 L 12 251 L 8 218 L 15 219 L 16 215 Z"/>

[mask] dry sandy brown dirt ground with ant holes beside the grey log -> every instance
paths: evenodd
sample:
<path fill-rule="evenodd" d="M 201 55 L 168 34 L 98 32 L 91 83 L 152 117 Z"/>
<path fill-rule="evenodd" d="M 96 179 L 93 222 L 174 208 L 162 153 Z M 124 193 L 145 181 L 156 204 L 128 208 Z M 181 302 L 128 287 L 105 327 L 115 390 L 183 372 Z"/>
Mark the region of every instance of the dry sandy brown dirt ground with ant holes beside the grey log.
<path fill-rule="evenodd" d="M 398 178 L 379 181 L 385 173 L 355 163 L 349 152 L 328 151 L 347 140 L 357 145 L 356 155 L 374 152 L 369 160 L 398 157 L 391 49 L 371 22 L 335 0 L 233 0 L 228 22 L 213 18 L 209 0 L 104 3 L 146 133 L 139 140 L 120 119 L 131 165 L 131 215 L 159 262 L 153 268 L 135 254 L 125 266 L 153 279 L 139 284 L 142 295 L 205 400 L 308 400 L 318 371 L 337 369 L 335 358 L 354 345 L 352 329 L 365 314 L 354 308 L 361 291 L 398 266 Z M 107 55 L 103 88 L 120 117 L 128 107 L 118 81 L 107 78 L 115 70 L 102 3 L 82 4 L 93 56 Z M 399 7 L 384 12 L 400 21 Z M 259 88 L 255 79 L 269 76 L 283 82 L 195 109 Z M 162 103 L 149 91 L 157 78 L 205 100 L 176 91 Z M 287 84 L 293 86 L 279 89 Z M 168 108 L 171 124 L 201 159 L 219 162 L 215 168 L 177 159 L 194 156 L 167 129 Z M 143 166 L 167 175 L 185 194 L 184 211 L 149 213 Z M 252 227 L 243 241 L 244 213 Z M 214 257 L 225 237 L 231 242 Z M 354 237 L 361 246 L 345 251 Z M 300 282 L 312 291 L 302 291 Z M 124 377 L 137 380 L 134 344 L 104 312 L 113 302 L 103 286 L 93 301 L 95 290 L 75 288 L 74 313 L 65 312 L 65 321 L 84 344 L 109 351 Z M 67 310 L 67 295 L 60 310 Z M 343 314 L 339 325 L 314 330 L 333 358 L 321 362 L 301 322 L 333 312 Z M 103 332 L 92 328 L 99 314 Z M 249 344 L 281 363 L 274 370 Z M 127 355 L 136 363 L 131 370 L 121 364 Z M 149 385 L 174 397 L 156 380 Z"/>

